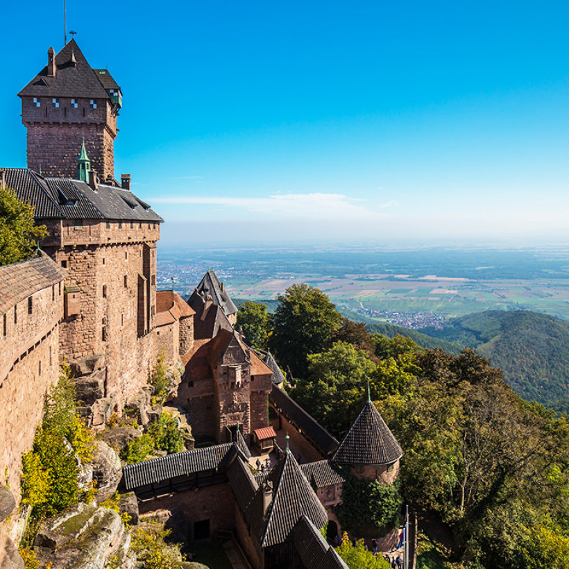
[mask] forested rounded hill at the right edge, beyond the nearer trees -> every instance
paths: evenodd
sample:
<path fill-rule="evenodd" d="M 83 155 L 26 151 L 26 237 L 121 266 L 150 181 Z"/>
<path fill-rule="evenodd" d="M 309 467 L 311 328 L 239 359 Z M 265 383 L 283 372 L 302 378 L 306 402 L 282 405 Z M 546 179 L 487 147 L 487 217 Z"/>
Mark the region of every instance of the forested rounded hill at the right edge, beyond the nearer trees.
<path fill-rule="evenodd" d="M 569 409 L 569 322 L 529 310 L 487 310 L 421 332 L 475 348 L 520 396 Z"/>

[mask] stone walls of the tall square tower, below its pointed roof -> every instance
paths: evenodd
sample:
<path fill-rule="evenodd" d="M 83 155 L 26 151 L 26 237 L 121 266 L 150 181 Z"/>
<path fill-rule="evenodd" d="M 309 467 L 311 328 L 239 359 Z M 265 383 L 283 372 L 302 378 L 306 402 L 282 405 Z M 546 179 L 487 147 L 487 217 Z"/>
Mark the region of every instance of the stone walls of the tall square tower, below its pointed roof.
<path fill-rule="evenodd" d="M 97 101 L 93 109 L 90 99 L 60 98 L 55 108 L 51 99 L 40 98 L 40 107 L 33 97 L 22 99 L 22 122 L 27 128 L 28 168 L 42 171 L 44 176 L 76 178 L 76 158 L 85 139 L 91 167 L 101 180 L 114 177 L 114 139 L 117 117 L 110 111 L 110 101 Z"/>

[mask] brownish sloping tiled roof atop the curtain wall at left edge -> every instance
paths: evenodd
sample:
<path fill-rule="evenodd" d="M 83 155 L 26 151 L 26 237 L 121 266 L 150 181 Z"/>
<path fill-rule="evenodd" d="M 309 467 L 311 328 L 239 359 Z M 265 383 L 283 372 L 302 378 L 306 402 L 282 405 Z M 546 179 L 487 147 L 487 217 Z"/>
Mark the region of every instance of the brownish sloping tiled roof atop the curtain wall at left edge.
<path fill-rule="evenodd" d="M 27 261 L 0 266 L 0 314 L 66 276 L 67 271 L 43 251 L 36 251 Z"/>

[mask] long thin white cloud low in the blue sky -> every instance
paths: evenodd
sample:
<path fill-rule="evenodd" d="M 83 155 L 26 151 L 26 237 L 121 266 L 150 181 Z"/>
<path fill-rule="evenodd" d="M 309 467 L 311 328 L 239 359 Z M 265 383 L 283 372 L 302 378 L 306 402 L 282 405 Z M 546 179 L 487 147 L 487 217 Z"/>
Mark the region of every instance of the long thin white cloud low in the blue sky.
<path fill-rule="evenodd" d="M 216 205 L 239 207 L 257 214 L 318 219 L 377 219 L 385 216 L 377 210 L 398 205 L 394 201 L 366 207 L 363 200 L 343 194 L 275 194 L 267 198 L 235 198 L 228 196 L 156 197 L 153 203 Z"/>

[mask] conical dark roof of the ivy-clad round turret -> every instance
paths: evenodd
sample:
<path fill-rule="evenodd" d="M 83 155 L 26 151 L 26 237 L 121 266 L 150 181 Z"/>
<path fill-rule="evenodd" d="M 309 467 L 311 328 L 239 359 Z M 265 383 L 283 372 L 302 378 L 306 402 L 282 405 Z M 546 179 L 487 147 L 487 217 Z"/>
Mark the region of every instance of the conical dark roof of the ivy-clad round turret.
<path fill-rule="evenodd" d="M 332 458 L 341 464 L 391 464 L 403 451 L 373 402 L 368 401 Z"/>

